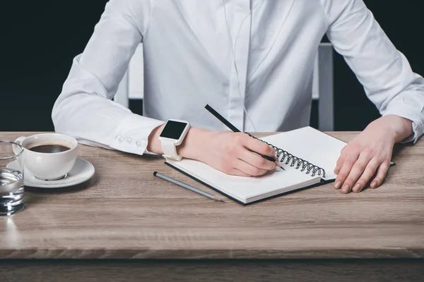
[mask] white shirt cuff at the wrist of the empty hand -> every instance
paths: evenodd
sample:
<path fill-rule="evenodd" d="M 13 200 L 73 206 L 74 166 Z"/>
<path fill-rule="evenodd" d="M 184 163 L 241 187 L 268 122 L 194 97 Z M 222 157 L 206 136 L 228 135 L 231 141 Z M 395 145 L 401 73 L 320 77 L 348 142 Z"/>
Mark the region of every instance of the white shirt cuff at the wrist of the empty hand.
<path fill-rule="evenodd" d="M 421 137 L 421 135 L 423 135 L 423 114 L 420 111 L 417 111 L 416 108 L 408 105 L 391 106 L 389 109 L 384 111 L 383 116 L 387 116 L 390 114 L 401 116 L 402 118 L 408 118 L 408 120 L 412 121 L 413 134 L 399 143 L 413 142 L 413 144 L 415 144 Z"/>

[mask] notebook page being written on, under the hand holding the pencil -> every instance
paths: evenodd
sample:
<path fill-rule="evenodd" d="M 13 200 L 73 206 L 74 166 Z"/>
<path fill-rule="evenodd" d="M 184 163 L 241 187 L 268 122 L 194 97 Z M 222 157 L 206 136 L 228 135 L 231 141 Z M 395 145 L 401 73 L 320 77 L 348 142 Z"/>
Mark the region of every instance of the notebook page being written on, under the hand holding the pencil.
<path fill-rule="evenodd" d="M 285 190 L 290 191 L 290 188 L 306 187 L 319 183 L 320 180 L 319 177 L 312 178 L 290 166 L 284 166 L 286 171 L 272 171 L 259 177 L 244 177 L 230 176 L 192 159 L 167 162 L 244 203 L 277 195 Z"/>

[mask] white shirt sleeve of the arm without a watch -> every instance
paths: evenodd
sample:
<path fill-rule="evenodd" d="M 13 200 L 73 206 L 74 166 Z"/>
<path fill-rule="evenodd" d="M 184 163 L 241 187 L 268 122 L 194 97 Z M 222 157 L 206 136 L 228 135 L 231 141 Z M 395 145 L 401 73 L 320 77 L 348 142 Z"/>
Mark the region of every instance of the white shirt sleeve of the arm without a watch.
<path fill-rule="evenodd" d="M 384 33 L 363 0 L 322 0 L 327 36 L 383 116 L 413 121 L 417 142 L 424 133 L 424 79 Z"/>

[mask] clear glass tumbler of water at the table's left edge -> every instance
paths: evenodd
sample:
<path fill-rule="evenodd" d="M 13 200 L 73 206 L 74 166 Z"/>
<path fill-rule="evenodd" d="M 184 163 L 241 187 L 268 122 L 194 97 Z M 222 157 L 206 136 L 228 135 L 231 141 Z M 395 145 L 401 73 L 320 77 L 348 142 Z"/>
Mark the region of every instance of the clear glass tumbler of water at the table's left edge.
<path fill-rule="evenodd" d="M 23 190 L 23 147 L 0 141 L 0 216 L 23 209 Z"/>

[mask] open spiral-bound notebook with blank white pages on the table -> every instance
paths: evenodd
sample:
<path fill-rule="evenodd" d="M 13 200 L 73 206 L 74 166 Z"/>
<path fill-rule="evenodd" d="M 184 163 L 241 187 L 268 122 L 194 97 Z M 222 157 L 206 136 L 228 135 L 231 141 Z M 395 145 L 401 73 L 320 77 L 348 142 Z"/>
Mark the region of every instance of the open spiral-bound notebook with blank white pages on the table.
<path fill-rule="evenodd" d="M 311 127 L 261 140 L 276 147 L 274 149 L 285 171 L 276 169 L 265 176 L 249 178 L 229 176 L 192 159 L 168 160 L 166 164 L 240 204 L 252 204 L 336 179 L 333 171 L 341 149 L 346 145 L 346 142 Z"/>

